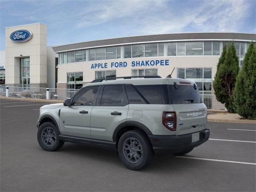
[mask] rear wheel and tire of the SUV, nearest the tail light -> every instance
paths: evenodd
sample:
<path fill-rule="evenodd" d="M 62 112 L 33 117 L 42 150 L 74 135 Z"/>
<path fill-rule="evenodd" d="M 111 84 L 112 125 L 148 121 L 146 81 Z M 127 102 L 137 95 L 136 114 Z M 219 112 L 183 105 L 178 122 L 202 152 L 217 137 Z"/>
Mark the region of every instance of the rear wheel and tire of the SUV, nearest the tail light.
<path fill-rule="evenodd" d="M 118 156 L 127 168 L 140 170 L 150 164 L 154 153 L 146 134 L 139 130 L 131 130 L 120 137 Z"/>

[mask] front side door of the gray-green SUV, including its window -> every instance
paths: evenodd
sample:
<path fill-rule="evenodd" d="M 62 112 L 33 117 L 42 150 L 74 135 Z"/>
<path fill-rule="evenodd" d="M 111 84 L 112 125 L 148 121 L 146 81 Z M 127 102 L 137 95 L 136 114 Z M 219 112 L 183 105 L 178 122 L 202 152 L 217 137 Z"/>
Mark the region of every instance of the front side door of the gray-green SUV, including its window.
<path fill-rule="evenodd" d="M 60 132 L 62 135 L 91 138 L 90 115 L 98 97 L 100 86 L 83 88 L 72 99 L 71 106 L 60 110 Z"/>

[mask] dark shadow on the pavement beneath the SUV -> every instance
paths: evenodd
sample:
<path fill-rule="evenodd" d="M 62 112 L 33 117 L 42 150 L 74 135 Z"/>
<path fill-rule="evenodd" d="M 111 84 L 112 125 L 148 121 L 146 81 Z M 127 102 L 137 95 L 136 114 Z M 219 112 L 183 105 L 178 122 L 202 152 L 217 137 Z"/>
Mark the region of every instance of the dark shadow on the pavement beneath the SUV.
<path fill-rule="evenodd" d="M 59 153 L 64 153 L 68 156 L 76 156 L 76 158 L 84 158 L 84 160 L 97 162 L 99 166 L 107 164 L 110 167 L 123 168 L 128 170 L 120 161 L 118 154 L 114 150 L 106 150 L 102 148 L 90 147 L 82 144 L 65 143 L 64 146 L 58 150 Z M 169 156 L 154 156 L 151 164 L 140 172 L 152 172 L 152 173 L 163 173 L 163 172 L 180 172 L 181 170 L 186 171 L 191 166 L 198 166 L 198 161 L 191 161 L 188 159 L 176 158 L 173 155 Z M 202 163 L 201 164 L 205 164 Z"/>

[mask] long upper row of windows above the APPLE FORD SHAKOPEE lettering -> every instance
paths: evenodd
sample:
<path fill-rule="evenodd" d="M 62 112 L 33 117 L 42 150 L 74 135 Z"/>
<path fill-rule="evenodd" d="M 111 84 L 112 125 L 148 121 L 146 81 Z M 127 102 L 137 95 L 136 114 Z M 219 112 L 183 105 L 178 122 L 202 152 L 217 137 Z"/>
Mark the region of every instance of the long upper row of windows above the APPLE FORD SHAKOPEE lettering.
<path fill-rule="evenodd" d="M 59 53 L 59 64 L 108 60 L 119 58 L 143 58 L 157 56 L 220 56 L 224 45 L 229 46 L 230 41 L 190 41 L 145 43 L 124 46 L 111 46 Z M 236 54 L 244 57 L 248 42 L 234 42 Z M 89 57 L 86 58 L 86 57 Z M 243 58 L 240 58 L 243 60 Z M 240 62 L 241 65 L 241 62 Z"/>

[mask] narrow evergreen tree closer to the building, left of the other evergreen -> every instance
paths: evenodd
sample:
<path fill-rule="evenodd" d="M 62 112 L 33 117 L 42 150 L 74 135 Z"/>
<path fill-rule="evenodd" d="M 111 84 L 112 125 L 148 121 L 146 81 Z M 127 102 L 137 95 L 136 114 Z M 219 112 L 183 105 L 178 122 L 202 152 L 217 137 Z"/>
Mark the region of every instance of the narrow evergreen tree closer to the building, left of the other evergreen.
<path fill-rule="evenodd" d="M 239 71 L 238 57 L 236 56 L 234 42 L 228 46 L 228 50 L 224 54 L 224 59 L 221 57 L 219 60 L 219 62 L 221 61 L 223 63 L 219 63 L 220 65 L 217 67 L 218 70 L 213 86 L 216 99 L 222 104 L 225 104 L 228 112 L 233 113 L 235 112 L 233 106 L 233 90 Z"/>

